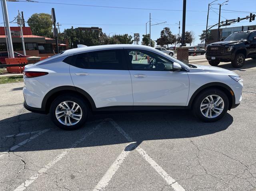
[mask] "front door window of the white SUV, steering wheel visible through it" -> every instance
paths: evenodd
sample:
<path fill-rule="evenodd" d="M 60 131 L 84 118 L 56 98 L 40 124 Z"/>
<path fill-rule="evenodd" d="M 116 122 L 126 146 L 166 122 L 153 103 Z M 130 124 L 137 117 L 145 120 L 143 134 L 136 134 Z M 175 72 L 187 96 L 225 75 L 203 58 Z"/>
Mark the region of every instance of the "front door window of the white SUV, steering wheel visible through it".
<path fill-rule="evenodd" d="M 128 49 L 127 53 L 132 70 L 172 70 L 173 62 L 156 53 L 132 49 Z"/>

